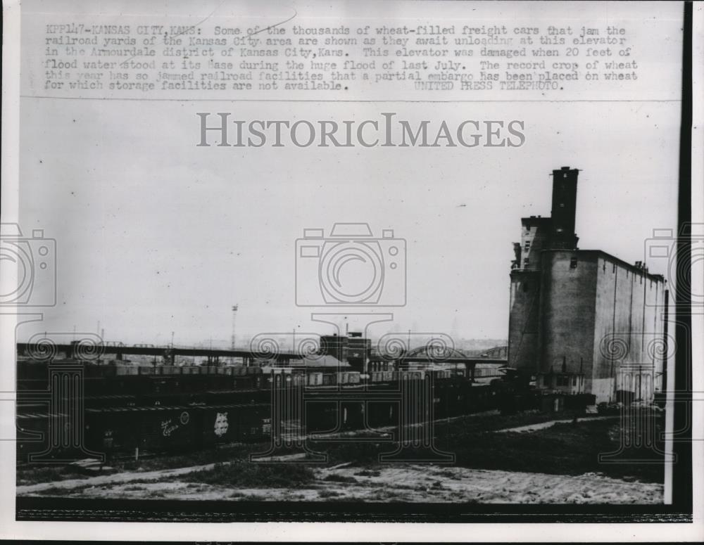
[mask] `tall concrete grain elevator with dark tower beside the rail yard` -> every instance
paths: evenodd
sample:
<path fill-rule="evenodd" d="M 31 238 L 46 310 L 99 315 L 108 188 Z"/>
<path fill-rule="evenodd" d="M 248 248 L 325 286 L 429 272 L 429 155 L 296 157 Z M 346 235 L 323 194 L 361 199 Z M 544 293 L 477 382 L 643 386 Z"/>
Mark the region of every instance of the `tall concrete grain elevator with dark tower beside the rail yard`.
<path fill-rule="evenodd" d="M 508 363 L 536 376 L 538 387 L 591 393 L 597 402 L 650 401 L 667 353 L 665 279 L 641 262 L 577 248 L 578 174 L 554 170 L 551 217 L 521 220 Z"/>

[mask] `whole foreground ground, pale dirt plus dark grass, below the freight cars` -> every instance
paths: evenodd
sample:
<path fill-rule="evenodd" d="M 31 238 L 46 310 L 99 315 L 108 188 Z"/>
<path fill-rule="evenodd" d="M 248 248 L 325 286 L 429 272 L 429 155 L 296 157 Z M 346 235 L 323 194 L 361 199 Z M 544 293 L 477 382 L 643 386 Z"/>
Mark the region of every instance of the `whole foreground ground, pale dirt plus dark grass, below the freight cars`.
<path fill-rule="evenodd" d="M 383 442 L 346 432 L 310 441 L 327 463 L 306 464 L 292 452 L 251 463 L 265 442 L 223 444 L 188 454 L 115 459 L 89 467 L 18 466 L 18 496 L 228 501 L 367 501 L 463 503 L 658 504 L 664 465 L 608 463 L 598 454 L 619 450 L 618 414 L 570 415 L 486 411 L 435 423 L 436 447 L 454 463 L 380 463 Z M 660 429 L 662 415 L 650 414 Z M 351 441 L 350 441 L 351 440 Z M 653 450 L 631 451 L 643 460 Z"/>

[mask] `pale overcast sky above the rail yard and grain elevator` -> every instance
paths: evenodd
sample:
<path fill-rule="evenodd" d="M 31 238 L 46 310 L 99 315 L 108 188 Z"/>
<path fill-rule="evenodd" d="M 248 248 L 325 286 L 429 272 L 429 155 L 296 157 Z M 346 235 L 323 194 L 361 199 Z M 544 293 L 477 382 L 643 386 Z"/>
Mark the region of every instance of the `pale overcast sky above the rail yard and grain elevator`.
<path fill-rule="evenodd" d="M 207 103 L 239 119 L 524 120 L 521 148 L 199 148 L 203 104 L 25 98 L 20 219 L 57 241 L 58 304 L 32 331 L 228 342 L 320 331 L 295 306 L 303 229 L 368 222 L 408 242 L 408 304 L 383 330 L 505 338 L 511 243 L 578 167 L 579 246 L 643 259 L 674 226 L 679 103 Z M 654 272 L 665 272 L 655 270 Z M 355 324 L 351 323 L 351 327 Z"/>

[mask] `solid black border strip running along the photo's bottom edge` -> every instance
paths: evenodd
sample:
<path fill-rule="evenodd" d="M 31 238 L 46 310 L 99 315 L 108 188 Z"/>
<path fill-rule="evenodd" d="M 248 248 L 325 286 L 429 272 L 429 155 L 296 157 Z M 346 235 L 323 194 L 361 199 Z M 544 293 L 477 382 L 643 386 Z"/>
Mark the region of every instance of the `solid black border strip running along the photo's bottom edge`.
<path fill-rule="evenodd" d="M 691 522 L 674 506 L 21 497 L 17 520 L 91 522 Z"/>

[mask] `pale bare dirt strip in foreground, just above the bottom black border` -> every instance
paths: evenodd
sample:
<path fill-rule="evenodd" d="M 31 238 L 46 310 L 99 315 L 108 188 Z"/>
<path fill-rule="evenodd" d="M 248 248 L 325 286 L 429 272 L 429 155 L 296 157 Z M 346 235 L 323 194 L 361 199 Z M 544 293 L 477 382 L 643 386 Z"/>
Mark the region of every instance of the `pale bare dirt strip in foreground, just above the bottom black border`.
<path fill-rule="evenodd" d="M 237 488 L 184 482 L 180 477 L 212 465 L 101 475 L 17 488 L 19 496 L 113 499 L 243 499 L 478 502 L 515 504 L 658 504 L 658 483 L 626 482 L 604 475 L 548 475 L 444 466 L 316 469 L 315 482 L 296 488 Z"/>

